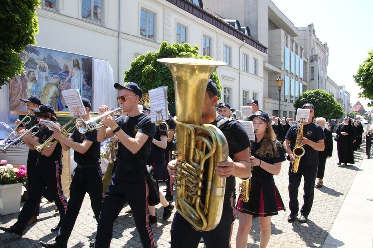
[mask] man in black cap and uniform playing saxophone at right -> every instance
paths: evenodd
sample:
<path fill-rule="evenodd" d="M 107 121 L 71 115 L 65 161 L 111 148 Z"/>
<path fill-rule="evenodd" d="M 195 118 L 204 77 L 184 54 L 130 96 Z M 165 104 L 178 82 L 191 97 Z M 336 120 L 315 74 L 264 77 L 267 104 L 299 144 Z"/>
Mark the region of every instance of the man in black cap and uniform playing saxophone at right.
<path fill-rule="evenodd" d="M 314 105 L 311 103 L 303 104 L 302 108 L 309 109 L 310 114 L 307 122 L 303 123 L 303 137 L 300 137 L 299 143 L 303 146 L 305 153 L 299 161 L 299 168 L 296 173 L 291 171 L 292 161 L 294 159 L 293 148 L 295 146 L 298 125 L 292 125 L 285 136 L 284 148 L 289 154 L 289 209 L 290 215 L 288 222 L 293 222 L 298 216 L 298 189 L 302 176 L 304 177 L 304 203 L 300 209 L 299 222 L 306 223 L 308 215 L 311 212 L 312 203 L 314 201 L 314 184 L 316 181 L 317 167 L 318 167 L 318 151 L 324 150 L 325 134 L 321 126 L 312 122 L 314 117 Z"/>

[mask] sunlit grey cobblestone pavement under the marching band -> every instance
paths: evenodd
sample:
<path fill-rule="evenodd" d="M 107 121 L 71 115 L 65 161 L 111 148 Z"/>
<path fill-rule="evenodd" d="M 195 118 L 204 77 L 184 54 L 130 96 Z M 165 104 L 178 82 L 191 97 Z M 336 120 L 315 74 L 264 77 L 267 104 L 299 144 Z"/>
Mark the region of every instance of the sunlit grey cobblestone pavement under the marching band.
<path fill-rule="evenodd" d="M 334 152 L 332 158 L 327 160 L 324 187 L 316 188 L 314 194 L 314 205 L 309 215 L 309 221 L 301 224 L 298 221 L 294 223 L 287 222 L 287 211 L 281 211 L 278 215 L 272 217 L 272 236 L 268 247 L 271 248 L 303 248 L 303 247 L 322 247 L 324 241 L 331 229 L 336 215 L 338 214 L 345 196 L 352 184 L 352 181 L 359 170 L 362 159 L 365 156 L 365 142 L 362 148 L 355 152 L 355 164 L 352 166 L 338 167 L 338 156 L 336 151 L 336 142 L 334 142 Z M 288 169 L 289 162 L 282 164 L 281 173 L 275 176 L 275 183 L 281 192 L 285 207 L 288 208 Z M 238 183 L 236 184 L 238 186 Z M 303 182 L 299 187 L 299 204 L 303 204 Z M 165 185 L 161 185 L 161 191 Z M 56 232 L 50 232 L 50 229 L 59 222 L 59 213 L 55 213 L 54 204 L 41 204 L 40 216 L 38 221 L 29 226 L 26 233 L 22 236 L 4 233 L 0 230 L 1 248 L 33 248 L 41 247 L 39 240 L 49 241 L 56 237 Z M 131 213 L 124 213 L 129 209 L 125 206 L 118 219 L 114 223 L 113 239 L 111 247 L 113 248 L 139 248 L 140 239 L 135 228 L 133 216 Z M 173 210 L 175 212 L 175 209 Z M 152 224 L 155 240 L 159 248 L 169 248 L 170 228 L 172 217 L 168 221 L 162 221 L 163 207 L 158 205 L 156 209 L 158 223 Z M 18 213 L 1 216 L 0 225 L 9 227 L 17 221 Z M 75 223 L 74 230 L 69 239 L 68 247 L 89 247 L 89 240 L 96 235 L 97 224 L 93 217 L 90 207 L 89 197 L 86 196 L 79 217 Z M 238 219 L 234 223 L 232 234 L 232 247 L 235 247 L 236 234 L 238 229 Z M 253 227 L 249 234 L 248 248 L 259 247 L 260 225 L 258 218 L 254 218 Z M 204 247 L 203 244 L 199 248 Z"/>

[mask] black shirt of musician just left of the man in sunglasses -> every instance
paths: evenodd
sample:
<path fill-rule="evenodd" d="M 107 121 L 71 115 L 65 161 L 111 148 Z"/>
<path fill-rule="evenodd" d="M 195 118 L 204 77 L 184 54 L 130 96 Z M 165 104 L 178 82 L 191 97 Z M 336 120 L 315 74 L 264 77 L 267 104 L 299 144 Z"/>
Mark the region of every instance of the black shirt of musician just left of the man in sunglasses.
<path fill-rule="evenodd" d="M 93 125 L 96 125 L 96 123 L 94 123 Z M 85 140 L 93 142 L 84 154 L 74 151 L 74 161 L 77 164 L 100 163 L 101 142 L 97 141 L 97 130 L 81 134 L 77 129 L 75 129 L 70 137 L 73 138 L 73 141 L 80 144 L 83 143 L 83 141 Z"/>

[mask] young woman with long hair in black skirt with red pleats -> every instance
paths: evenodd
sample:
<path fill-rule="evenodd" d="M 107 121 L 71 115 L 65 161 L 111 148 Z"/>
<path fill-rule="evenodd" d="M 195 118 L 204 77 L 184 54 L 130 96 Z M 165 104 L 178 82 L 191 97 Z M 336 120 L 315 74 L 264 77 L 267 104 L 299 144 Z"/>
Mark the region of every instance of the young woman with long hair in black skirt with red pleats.
<path fill-rule="evenodd" d="M 253 216 L 259 216 L 260 247 L 265 248 L 271 237 L 271 217 L 284 210 L 280 192 L 278 191 L 273 175 L 281 171 L 281 162 L 285 161 L 282 145 L 276 140 L 268 114 L 257 111 L 249 117 L 253 121 L 255 143 L 251 145 L 250 163 L 253 168 L 251 177 L 251 191 L 248 202 L 238 198 L 237 211 L 239 227 L 236 237 L 236 248 L 247 247 Z"/>

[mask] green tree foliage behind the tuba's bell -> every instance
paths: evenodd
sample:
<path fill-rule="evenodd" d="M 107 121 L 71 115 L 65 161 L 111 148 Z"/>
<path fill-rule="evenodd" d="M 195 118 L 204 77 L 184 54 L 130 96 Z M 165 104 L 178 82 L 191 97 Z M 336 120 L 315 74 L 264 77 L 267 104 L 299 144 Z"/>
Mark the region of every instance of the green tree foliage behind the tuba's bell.
<path fill-rule="evenodd" d="M 163 41 L 158 52 L 148 52 L 147 54 L 138 56 L 131 62 L 131 67 L 125 71 L 124 81 L 137 83 L 144 93 L 150 89 L 155 89 L 160 86 L 168 86 L 168 101 L 175 102 L 174 82 L 170 70 L 163 63 L 157 62 L 159 58 L 197 58 L 213 60 L 209 56 L 201 56 L 198 54 L 199 47 L 190 44 L 173 43 L 172 45 Z M 214 71 L 210 77 L 215 83 L 221 98 L 221 84 L 219 76 Z"/>

